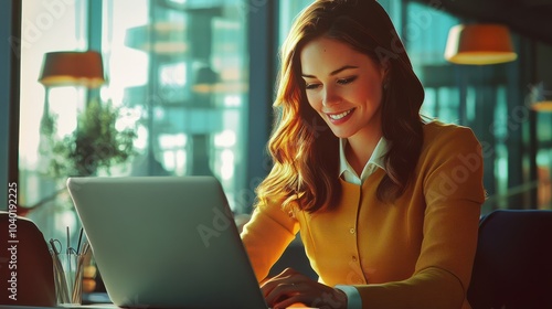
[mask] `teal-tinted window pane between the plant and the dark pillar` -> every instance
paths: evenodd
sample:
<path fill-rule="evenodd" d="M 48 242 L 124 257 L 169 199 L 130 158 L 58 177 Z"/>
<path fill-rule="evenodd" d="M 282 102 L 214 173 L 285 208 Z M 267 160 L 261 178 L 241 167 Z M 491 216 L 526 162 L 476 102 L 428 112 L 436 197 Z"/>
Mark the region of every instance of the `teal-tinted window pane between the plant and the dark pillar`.
<path fill-rule="evenodd" d="M 237 1 L 104 1 L 106 99 L 135 121 L 131 175 L 215 175 L 231 206 L 245 183 L 246 19 Z"/>

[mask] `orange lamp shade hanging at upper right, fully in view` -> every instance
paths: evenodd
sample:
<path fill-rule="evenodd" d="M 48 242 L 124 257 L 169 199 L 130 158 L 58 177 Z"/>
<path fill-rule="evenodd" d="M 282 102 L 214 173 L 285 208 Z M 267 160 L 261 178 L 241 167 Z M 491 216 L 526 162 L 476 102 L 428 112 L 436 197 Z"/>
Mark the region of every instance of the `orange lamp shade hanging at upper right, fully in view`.
<path fill-rule="evenodd" d="M 501 24 L 458 24 L 448 32 L 445 58 L 456 64 L 497 64 L 518 57 Z"/>

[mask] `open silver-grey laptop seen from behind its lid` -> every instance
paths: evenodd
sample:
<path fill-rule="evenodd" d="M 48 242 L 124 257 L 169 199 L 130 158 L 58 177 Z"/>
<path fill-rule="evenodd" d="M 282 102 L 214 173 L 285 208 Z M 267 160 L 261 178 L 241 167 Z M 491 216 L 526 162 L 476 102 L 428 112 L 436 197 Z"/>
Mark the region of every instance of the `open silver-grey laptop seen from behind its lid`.
<path fill-rule="evenodd" d="M 70 178 L 67 188 L 115 305 L 267 308 L 215 178 Z"/>

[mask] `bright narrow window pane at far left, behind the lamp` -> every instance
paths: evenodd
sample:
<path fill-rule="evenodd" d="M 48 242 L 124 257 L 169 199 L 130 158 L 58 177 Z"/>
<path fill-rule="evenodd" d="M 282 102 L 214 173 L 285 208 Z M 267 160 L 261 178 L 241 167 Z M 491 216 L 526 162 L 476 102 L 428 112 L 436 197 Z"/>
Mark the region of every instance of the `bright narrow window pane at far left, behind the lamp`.
<path fill-rule="evenodd" d="M 52 177 L 49 170 L 52 145 L 46 139 L 43 119 L 50 115 L 55 120 L 53 138 L 62 140 L 71 135 L 77 126 L 77 110 L 84 105 L 85 93 L 75 86 L 50 87 L 46 92 L 39 77 L 45 53 L 83 50 L 84 8 L 82 1 L 21 3 L 20 211 L 34 207 L 28 216 L 44 237 L 62 238 L 66 227 L 77 230 L 77 220 L 63 190 L 64 179 Z"/>

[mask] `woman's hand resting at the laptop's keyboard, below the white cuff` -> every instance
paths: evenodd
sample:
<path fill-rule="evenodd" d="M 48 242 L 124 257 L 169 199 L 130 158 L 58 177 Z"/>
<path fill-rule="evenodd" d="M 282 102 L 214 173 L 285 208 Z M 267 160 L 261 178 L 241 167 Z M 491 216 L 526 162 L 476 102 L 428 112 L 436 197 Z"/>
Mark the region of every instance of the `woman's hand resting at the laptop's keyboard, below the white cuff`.
<path fill-rule="evenodd" d="M 294 303 L 327 309 L 346 309 L 347 296 L 341 290 L 319 284 L 309 277 L 286 268 L 261 286 L 272 308 L 287 308 Z"/>

